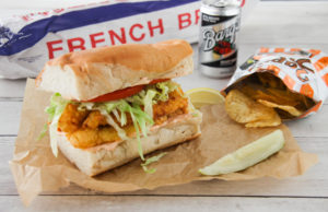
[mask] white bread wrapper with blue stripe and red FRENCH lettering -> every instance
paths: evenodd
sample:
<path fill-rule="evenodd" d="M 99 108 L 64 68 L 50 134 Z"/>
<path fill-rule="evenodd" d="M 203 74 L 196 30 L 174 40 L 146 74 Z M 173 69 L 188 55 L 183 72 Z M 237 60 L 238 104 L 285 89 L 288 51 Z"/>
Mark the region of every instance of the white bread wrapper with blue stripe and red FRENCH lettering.
<path fill-rule="evenodd" d="M 198 39 L 199 0 L 99 0 L 0 19 L 0 76 L 35 78 L 60 55 L 126 43 Z"/>

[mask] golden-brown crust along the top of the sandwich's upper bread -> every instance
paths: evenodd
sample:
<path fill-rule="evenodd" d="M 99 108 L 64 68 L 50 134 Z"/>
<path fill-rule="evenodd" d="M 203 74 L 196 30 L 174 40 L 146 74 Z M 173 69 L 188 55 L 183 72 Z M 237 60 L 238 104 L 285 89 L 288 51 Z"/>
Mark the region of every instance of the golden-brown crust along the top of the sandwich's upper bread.
<path fill-rule="evenodd" d="M 89 72 L 89 63 L 125 66 L 131 70 L 166 72 L 192 54 L 185 40 L 172 39 L 157 44 L 126 44 L 66 54 L 48 61 L 48 66 L 72 66 L 75 74 Z"/>

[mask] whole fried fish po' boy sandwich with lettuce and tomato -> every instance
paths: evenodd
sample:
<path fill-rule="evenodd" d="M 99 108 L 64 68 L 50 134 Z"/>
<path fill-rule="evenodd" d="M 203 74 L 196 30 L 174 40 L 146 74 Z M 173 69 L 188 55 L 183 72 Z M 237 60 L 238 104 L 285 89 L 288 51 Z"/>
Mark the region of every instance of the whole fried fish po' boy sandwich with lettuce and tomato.
<path fill-rule="evenodd" d="M 201 114 L 171 79 L 192 72 L 185 40 L 127 44 L 48 61 L 36 86 L 54 92 L 49 115 L 58 150 L 90 176 L 200 136 Z"/>

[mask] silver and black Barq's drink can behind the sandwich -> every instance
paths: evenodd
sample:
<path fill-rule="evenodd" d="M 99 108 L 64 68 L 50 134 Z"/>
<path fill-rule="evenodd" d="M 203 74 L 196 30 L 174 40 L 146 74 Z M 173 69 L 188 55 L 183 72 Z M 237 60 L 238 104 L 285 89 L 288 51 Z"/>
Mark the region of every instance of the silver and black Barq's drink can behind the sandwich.
<path fill-rule="evenodd" d="M 199 70 L 210 78 L 227 78 L 236 70 L 239 1 L 202 0 Z"/>

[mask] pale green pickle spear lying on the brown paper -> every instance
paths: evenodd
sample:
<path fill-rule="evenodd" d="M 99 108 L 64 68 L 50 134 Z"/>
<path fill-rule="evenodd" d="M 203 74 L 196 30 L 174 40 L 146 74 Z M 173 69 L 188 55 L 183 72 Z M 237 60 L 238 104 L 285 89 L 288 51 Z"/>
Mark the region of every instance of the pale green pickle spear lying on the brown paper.
<path fill-rule="evenodd" d="M 281 150 L 283 145 L 283 133 L 281 130 L 276 130 L 221 157 L 213 164 L 200 168 L 199 173 L 202 175 L 222 175 L 243 170 L 268 158 Z"/>

